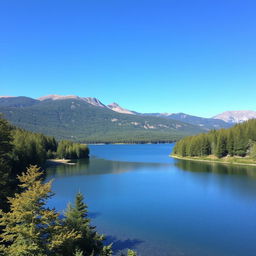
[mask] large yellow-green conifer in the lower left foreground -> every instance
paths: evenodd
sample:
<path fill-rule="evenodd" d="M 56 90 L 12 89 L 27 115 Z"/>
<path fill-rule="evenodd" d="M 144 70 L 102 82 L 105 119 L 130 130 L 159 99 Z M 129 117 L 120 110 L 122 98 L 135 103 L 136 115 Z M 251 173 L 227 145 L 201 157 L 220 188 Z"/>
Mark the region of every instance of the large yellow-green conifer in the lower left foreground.
<path fill-rule="evenodd" d="M 52 196 L 51 182 L 42 182 L 42 172 L 36 166 L 18 177 L 22 192 L 9 198 L 10 211 L 0 211 L 3 226 L 1 250 L 12 256 L 62 255 L 67 242 L 80 237 L 78 232 L 63 225 L 59 214 L 46 207 Z"/>

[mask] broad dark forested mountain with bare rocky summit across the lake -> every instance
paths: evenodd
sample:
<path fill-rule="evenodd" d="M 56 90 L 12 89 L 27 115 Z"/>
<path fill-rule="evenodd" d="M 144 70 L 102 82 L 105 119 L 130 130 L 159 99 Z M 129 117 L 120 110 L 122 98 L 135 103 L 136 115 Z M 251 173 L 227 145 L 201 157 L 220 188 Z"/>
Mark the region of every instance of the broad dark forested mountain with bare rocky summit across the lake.
<path fill-rule="evenodd" d="M 0 97 L 0 113 L 18 127 L 87 143 L 166 142 L 203 131 L 177 120 L 118 113 L 96 98 L 73 95 Z"/>

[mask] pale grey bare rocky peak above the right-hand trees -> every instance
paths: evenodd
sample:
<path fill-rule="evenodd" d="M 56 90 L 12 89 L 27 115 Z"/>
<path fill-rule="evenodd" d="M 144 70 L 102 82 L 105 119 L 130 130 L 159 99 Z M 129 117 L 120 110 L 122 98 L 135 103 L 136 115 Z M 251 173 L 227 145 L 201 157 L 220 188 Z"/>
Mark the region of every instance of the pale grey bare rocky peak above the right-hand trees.
<path fill-rule="evenodd" d="M 229 124 L 242 123 L 249 119 L 256 118 L 256 111 L 240 110 L 240 111 L 226 111 L 217 116 L 214 119 L 221 119 Z"/>

